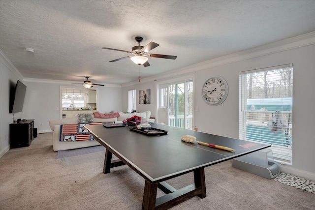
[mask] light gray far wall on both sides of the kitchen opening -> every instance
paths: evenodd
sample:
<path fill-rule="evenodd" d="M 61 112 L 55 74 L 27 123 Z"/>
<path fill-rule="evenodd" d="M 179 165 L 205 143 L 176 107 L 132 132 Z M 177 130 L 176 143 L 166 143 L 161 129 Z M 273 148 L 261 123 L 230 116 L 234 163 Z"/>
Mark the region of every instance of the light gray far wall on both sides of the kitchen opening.
<path fill-rule="evenodd" d="M 23 82 L 27 91 L 23 106 L 23 119 L 34 119 L 37 132 L 50 132 L 48 120 L 61 118 L 60 87 L 64 84 Z M 71 86 L 67 86 L 71 88 Z M 97 88 L 97 111 L 105 113 L 121 110 L 121 88 Z"/>

